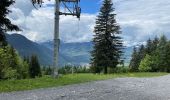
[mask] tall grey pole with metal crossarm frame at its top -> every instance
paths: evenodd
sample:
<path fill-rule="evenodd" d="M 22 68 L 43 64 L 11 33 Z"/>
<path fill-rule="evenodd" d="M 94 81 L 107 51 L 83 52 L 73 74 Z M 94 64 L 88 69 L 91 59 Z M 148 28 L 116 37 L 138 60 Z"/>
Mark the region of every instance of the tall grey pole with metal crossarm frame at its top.
<path fill-rule="evenodd" d="M 33 5 L 42 5 L 42 0 L 32 0 Z M 54 25 L 54 59 L 53 59 L 53 77 L 58 77 L 59 66 L 59 19 L 60 15 L 76 16 L 80 19 L 81 8 L 79 6 L 80 0 L 55 0 L 55 25 Z M 34 5 L 35 7 L 35 5 Z M 64 11 L 60 11 L 60 8 Z"/>

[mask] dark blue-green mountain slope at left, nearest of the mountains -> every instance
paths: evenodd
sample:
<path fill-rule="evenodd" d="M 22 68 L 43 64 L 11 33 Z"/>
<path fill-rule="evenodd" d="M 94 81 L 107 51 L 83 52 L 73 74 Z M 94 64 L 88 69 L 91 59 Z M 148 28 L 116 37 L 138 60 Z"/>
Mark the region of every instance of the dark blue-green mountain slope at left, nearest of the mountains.
<path fill-rule="evenodd" d="M 52 51 L 38 43 L 28 40 L 26 37 L 19 34 L 6 35 L 7 41 L 12 45 L 18 53 L 24 56 L 31 56 L 35 54 L 38 56 L 42 65 L 52 64 Z"/>

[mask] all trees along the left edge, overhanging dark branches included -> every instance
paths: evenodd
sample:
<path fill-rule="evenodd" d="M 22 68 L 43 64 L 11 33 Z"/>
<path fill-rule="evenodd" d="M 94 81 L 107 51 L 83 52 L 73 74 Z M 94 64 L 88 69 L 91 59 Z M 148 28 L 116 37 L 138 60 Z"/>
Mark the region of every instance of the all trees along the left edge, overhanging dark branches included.
<path fill-rule="evenodd" d="M 0 1 L 0 79 L 35 78 L 41 76 L 37 56 L 32 55 L 31 58 L 22 59 L 17 51 L 7 43 L 5 37 L 7 31 L 21 31 L 7 17 L 11 12 L 9 6 L 14 3 L 14 0 Z"/>

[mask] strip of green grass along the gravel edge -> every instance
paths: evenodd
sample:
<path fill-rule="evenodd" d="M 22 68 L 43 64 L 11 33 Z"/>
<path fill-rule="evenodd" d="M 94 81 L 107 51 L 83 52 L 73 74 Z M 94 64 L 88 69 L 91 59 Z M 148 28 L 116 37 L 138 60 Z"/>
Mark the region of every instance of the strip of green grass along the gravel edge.
<path fill-rule="evenodd" d="M 78 84 L 83 82 L 105 80 L 120 77 L 157 77 L 167 75 L 167 73 L 124 73 L 110 75 L 94 75 L 94 74 L 74 74 L 64 75 L 59 79 L 54 79 L 49 76 L 36 79 L 24 80 L 6 80 L 0 81 L 0 92 L 32 90 L 38 88 L 57 87 L 70 84 Z"/>

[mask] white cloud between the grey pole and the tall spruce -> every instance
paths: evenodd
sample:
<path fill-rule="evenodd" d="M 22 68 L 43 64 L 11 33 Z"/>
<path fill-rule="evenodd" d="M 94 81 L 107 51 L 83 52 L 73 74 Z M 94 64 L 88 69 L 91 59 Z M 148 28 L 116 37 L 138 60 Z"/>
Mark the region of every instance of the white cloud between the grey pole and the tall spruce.
<path fill-rule="evenodd" d="M 95 15 L 82 14 L 80 21 L 71 16 L 61 17 L 61 38 L 66 42 L 91 41 Z"/>

